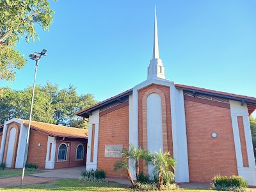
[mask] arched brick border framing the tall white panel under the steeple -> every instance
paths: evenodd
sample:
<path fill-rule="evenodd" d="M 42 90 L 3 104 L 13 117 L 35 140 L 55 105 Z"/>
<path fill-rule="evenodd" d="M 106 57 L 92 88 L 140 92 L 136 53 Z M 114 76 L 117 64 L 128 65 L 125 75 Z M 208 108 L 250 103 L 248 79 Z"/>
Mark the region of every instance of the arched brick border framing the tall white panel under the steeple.
<path fill-rule="evenodd" d="M 168 143 L 167 143 L 167 125 L 166 125 L 166 100 L 164 93 L 157 89 L 157 88 L 152 88 L 148 90 L 147 92 L 144 93 L 142 97 L 142 132 L 143 132 L 143 137 L 142 137 L 142 143 L 143 143 L 143 148 L 147 150 L 147 97 L 151 93 L 157 93 L 161 97 L 161 112 L 162 112 L 162 125 L 163 125 L 163 150 L 164 152 L 168 151 Z M 147 173 L 147 166 L 143 166 L 143 172 Z"/>

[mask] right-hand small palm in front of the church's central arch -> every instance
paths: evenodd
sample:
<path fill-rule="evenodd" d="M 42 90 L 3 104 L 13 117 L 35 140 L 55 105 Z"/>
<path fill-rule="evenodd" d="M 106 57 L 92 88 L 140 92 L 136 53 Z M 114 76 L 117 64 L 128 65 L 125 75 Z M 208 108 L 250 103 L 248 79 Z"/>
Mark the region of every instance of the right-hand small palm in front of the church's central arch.
<path fill-rule="evenodd" d="M 170 157 L 170 152 L 156 152 L 152 154 L 152 164 L 158 174 L 157 189 L 162 190 L 164 178 L 170 179 L 174 177 L 172 169 L 174 169 L 175 161 Z"/>

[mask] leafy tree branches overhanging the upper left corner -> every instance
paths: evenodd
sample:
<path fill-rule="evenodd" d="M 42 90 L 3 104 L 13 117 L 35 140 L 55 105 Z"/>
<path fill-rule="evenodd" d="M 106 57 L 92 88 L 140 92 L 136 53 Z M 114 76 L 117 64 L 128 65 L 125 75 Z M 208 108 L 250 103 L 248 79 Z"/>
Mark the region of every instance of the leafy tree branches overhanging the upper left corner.
<path fill-rule="evenodd" d="M 13 81 L 15 69 L 26 64 L 15 44 L 23 36 L 28 43 L 34 41 L 38 37 L 35 24 L 49 29 L 54 12 L 47 0 L 1 0 L 0 10 L 0 80 Z"/>

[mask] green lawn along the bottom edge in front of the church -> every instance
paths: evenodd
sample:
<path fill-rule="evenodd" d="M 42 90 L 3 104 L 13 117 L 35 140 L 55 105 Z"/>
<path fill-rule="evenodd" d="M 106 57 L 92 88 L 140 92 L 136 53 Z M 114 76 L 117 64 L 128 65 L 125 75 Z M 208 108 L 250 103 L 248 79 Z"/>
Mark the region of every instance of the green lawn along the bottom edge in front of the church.
<path fill-rule="evenodd" d="M 14 192 L 14 191 L 72 191 L 72 192 L 86 192 L 86 191 L 137 191 L 134 189 L 129 189 L 128 186 L 118 184 L 116 182 L 84 182 L 77 179 L 61 179 L 55 180 L 46 184 L 36 184 L 31 186 L 24 186 L 20 189 L 19 187 L 12 188 L 0 188 L 0 191 Z M 207 192 L 210 189 L 178 189 L 179 192 Z M 174 192 L 174 191 L 173 191 Z"/>

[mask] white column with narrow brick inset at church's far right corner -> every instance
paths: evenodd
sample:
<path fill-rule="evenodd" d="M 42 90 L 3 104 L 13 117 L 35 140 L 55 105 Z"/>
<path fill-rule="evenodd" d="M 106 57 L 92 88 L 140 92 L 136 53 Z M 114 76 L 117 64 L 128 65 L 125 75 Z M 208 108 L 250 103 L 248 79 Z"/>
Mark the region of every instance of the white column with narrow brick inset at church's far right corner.
<path fill-rule="evenodd" d="M 248 184 L 250 186 L 256 186 L 256 168 L 253 156 L 252 135 L 250 131 L 247 104 L 244 103 L 243 106 L 241 106 L 241 102 L 235 100 L 229 100 L 229 103 L 236 149 L 238 175 L 243 177 L 245 180 L 248 180 Z M 241 150 L 237 116 L 243 116 L 244 136 L 246 141 L 246 150 L 249 167 L 243 166 L 243 156 Z"/>

